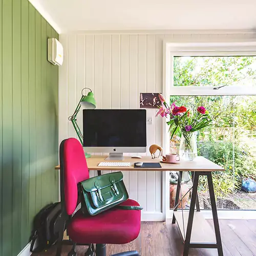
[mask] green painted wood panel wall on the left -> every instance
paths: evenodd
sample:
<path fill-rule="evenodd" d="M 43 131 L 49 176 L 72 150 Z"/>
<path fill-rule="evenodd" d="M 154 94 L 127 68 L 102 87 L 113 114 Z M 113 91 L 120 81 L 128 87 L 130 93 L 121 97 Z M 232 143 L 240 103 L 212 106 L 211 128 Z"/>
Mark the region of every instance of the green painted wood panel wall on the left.
<path fill-rule="evenodd" d="M 0 0 L 0 256 L 29 242 L 40 208 L 58 200 L 56 31 L 27 0 Z"/>

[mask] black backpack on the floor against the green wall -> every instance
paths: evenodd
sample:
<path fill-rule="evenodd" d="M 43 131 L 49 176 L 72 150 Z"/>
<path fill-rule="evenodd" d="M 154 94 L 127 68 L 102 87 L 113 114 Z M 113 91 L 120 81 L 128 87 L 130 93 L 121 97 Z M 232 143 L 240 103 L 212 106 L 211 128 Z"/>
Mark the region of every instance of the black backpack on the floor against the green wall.
<path fill-rule="evenodd" d="M 58 239 L 57 222 L 61 218 L 59 202 L 51 203 L 42 208 L 33 221 L 33 231 L 30 237 L 31 252 L 41 252 L 54 245 Z M 34 248 L 35 243 L 37 244 Z"/>

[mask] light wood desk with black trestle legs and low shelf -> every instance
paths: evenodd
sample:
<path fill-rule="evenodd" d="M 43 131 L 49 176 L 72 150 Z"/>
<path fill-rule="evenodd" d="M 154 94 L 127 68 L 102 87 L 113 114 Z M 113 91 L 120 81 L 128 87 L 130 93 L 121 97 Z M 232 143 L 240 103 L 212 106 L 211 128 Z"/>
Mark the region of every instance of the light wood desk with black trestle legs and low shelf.
<path fill-rule="evenodd" d="M 197 157 L 194 161 L 180 160 L 175 164 L 160 163 L 162 168 L 134 168 L 135 162 L 160 162 L 160 159 L 152 159 L 145 156 L 141 159 L 124 157 L 124 162 L 131 162 L 131 166 L 98 166 L 100 162 L 104 162 L 107 156 L 92 156 L 87 158 L 87 165 L 89 170 L 97 170 L 98 175 L 101 175 L 102 170 L 129 170 L 129 171 L 143 171 L 143 172 L 170 172 L 178 171 L 179 179 L 176 190 L 175 207 L 173 214 L 173 224 L 179 226 L 181 236 L 184 240 L 183 256 L 188 256 L 189 248 L 216 248 L 219 256 L 223 256 L 219 220 L 217 215 L 216 201 L 214 195 L 214 186 L 212 184 L 212 171 L 224 171 L 224 168 L 215 164 L 204 157 Z M 116 162 L 116 161 L 113 161 Z M 59 169 L 59 165 L 55 167 Z M 190 171 L 193 177 L 193 189 L 189 210 L 178 210 L 178 205 L 182 202 L 179 199 L 181 190 L 181 179 L 184 171 Z M 214 219 L 215 232 L 209 226 L 208 222 L 200 213 L 198 201 L 198 183 L 199 176 L 206 176 L 209 185 L 209 195 L 211 199 L 212 217 Z M 197 211 L 195 212 L 195 207 Z M 195 216 L 195 217 L 194 217 Z M 193 226 L 194 221 L 194 226 Z M 192 228 L 193 227 L 193 228 Z"/>

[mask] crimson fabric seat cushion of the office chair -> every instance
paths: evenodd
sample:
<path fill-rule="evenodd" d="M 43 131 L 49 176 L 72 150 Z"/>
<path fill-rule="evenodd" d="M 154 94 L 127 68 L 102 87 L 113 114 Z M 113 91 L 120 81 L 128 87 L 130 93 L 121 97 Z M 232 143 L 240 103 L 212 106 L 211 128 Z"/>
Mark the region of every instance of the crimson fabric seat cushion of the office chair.
<path fill-rule="evenodd" d="M 121 205 L 139 206 L 139 203 L 128 199 Z M 140 215 L 140 210 L 113 208 L 96 216 L 84 217 L 79 210 L 67 231 L 71 240 L 79 244 L 126 244 L 139 235 Z"/>

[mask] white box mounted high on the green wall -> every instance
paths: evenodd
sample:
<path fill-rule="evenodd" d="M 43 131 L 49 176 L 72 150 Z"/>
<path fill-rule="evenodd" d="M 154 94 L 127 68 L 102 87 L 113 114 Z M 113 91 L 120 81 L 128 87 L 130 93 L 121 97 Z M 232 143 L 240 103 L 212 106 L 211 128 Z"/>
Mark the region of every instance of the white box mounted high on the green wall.
<path fill-rule="evenodd" d="M 48 61 L 58 66 L 63 63 L 63 47 L 56 38 L 48 38 Z"/>

